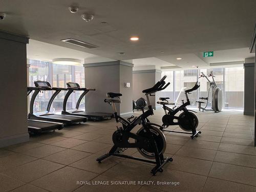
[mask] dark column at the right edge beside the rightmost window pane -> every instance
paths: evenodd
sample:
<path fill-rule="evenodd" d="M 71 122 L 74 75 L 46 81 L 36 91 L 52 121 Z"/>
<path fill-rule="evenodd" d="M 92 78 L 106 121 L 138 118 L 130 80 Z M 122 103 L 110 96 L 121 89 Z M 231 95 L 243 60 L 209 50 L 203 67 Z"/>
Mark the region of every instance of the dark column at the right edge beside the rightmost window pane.
<path fill-rule="evenodd" d="M 244 63 L 244 115 L 254 115 L 254 58 L 245 58 Z"/>

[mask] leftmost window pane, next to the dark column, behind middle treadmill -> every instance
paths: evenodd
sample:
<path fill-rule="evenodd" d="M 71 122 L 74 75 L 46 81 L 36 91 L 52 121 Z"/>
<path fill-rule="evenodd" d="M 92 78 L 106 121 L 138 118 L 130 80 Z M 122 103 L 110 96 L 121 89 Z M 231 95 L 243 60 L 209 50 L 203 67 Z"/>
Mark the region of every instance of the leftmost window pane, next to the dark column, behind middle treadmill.
<path fill-rule="evenodd" d="M 29 86 L 35 87 L 34 81 L 49 81 L 49 62 L 38 61 L 38 60 L 29 60 Z M 32 93 L 29 95 L 31 98 Z M 40 92 L 34 102 L 33 110 L 36 111 L 45 111 L 47 108 L 47 100 L 49 100 L 49 92 L 43 91 Z"/>

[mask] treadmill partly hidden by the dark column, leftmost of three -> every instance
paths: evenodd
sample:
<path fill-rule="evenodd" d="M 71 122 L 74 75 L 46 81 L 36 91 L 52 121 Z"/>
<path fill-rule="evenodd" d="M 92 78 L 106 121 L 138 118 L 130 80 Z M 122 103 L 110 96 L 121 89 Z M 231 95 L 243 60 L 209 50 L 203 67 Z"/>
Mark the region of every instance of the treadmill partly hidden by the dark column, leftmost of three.
<path fill-rule="evenodd" d="M 27 95 L 29 95 L 34 90 L 39 90 L 39 88 L 28 87 Z M 63 126 L 64 126 L 63 123 L 28 119 L 29 133 L 37 134 L 37 133 L 44 133 L 48 131 L 54 131 L 54 130 L 62 130 Z"/>

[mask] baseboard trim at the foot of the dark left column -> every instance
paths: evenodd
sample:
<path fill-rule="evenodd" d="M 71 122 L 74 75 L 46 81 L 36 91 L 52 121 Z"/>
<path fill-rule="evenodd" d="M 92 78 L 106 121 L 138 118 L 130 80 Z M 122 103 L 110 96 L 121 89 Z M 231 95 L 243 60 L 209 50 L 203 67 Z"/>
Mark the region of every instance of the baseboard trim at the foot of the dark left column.
<path fill-rule="evenodd" d="M 0 147 L 14 145 L 18 143 L 27 142 L 27 141 L 29 141 L 29 133 L 12 135 L 9 137 L 0 138 Z"/>

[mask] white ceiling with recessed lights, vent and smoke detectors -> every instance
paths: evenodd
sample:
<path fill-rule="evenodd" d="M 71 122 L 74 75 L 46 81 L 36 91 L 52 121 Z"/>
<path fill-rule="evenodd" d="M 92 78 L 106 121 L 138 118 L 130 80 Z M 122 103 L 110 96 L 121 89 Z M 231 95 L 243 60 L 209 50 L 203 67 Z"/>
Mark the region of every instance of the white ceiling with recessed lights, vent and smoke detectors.
<path fill-rule="evenodd" d="M 78 13 L 69 12 L 71 5 L 79 7 Z M 4 0 L 0 7 L 7 14 L 0 21 L 0 30 L 61 46 L 31 40 L 28 57 L 36 59 L 129 59 L 135 66 L 137 63 L 188 68 L 252 56 L 247 47 L 256 18 L 255 0 Z M 84 12 L 95 15 L 90 23 L 81 19 Z M 139 41 L 131 42 L 132 35 L 138 35 Z M 60 41 L 65 38 L 99 47 L 87 49 Z M 232 50 L 237 50 L 236 54 Z M 215 51 L 215 56 L 202 58 L 203 51 Z M 176 60 L 178 56 L 182 60 Z"/>

